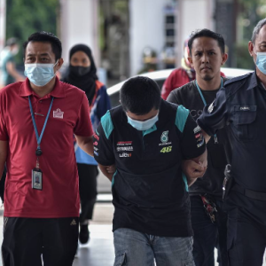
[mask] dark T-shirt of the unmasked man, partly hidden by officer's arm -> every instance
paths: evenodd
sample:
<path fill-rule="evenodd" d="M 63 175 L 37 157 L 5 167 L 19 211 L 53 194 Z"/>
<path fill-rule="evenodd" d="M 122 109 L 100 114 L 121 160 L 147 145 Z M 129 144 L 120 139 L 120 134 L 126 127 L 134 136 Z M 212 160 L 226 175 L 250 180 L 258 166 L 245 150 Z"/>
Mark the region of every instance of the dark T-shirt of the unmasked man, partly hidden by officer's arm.
<path fill-rule="evenodd" d="M 223 78 L 223 82 L 227 79 Z M 220 86 L 219 86 L 220 87 Z M 216 97 L 217 90 L 201 90 L 207 105 L 210 105 Z M 177 105 L 182 105 L 190 110 L 193 119 L 196 121 L 203 112 L 204 103 L 200 97 L 196 82 L 192 81 L 184 86 L 172 90 L 168 96 L 168 101 Z M 223 198 L 223 178 L 224 168 L 228 161 L 231 161 L 231 143 L 229 127 L 219 129 L 216 133 L 218 144 L 215 144 L 214 137 L 207 143 L 207 171 L 202 178 L 190 186 L 190 195 L 209 194 L 217 200 Z"/>

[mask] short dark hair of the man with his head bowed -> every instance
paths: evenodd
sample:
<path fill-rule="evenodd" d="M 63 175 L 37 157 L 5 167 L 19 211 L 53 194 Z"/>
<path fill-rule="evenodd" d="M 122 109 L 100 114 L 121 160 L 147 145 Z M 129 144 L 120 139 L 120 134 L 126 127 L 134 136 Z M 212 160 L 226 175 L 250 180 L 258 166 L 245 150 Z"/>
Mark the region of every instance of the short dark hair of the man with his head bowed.
<path fill-rule="evenodd" d="M 125 112 L 143 115 L 159 109 L 160 89 L 156 82 L 144 76 L 130 78 L 120 90 L 121 106 Z"/>

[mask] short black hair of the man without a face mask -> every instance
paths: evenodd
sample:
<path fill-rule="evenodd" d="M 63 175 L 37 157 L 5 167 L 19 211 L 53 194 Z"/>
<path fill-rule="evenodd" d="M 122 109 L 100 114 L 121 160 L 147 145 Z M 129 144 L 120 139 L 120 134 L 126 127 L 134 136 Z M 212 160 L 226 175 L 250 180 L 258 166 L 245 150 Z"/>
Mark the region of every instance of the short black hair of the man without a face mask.
<path fill-rule="evenodd" d="M 222 53 L 225 52 L 225 43 L 224 43 L 223 36 L 213 32 L 207 28 L 203 28 L 203 29 L 198 29 L 196 31 L 193 31 L 192 34 L 190 35 L 188 46 L 189 46 L 191 55 L 192 55 L 192 44 L 193 44 L 195 39 L 200 38 L 200 37 L 209 37 L 209 38 L 215 39 L 217 41 Z"/>

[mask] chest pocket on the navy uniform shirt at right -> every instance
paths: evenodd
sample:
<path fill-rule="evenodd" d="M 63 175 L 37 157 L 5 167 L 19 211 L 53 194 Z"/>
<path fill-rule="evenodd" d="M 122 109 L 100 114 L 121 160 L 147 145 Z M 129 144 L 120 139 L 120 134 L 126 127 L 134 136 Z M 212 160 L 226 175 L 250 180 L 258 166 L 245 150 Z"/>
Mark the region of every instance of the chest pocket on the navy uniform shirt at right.
<path fill-rule="evenodd" d="M 257 116 L 257 106 L 234 106 L 233 133 L 240 141 L 253 141 L 257 137 L 254 121 Z"/>

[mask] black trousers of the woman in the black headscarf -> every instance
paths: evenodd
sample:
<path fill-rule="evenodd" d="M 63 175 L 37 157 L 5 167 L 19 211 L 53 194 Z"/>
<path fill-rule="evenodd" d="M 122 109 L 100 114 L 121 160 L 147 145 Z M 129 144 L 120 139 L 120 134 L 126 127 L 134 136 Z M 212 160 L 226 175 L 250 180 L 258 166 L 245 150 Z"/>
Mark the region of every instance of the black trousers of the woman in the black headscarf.
<path fill-rule="evenodd" d="M 97 198 L 98 166 L 77 163 L 82 212 L 80 223 L 91 220 Z"/>

